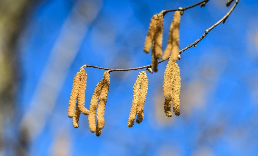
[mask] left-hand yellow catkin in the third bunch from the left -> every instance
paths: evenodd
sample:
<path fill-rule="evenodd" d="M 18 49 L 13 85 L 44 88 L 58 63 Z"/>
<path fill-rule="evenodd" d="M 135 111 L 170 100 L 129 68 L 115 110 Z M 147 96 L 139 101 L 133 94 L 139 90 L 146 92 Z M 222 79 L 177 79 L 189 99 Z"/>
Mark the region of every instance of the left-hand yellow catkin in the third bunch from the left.
<path fill-rule="evenodd" d="M 141 75 L 142 75 L 142 73 L 140 73 L 137 76 L 137 79 L 134 83 L 133 102 L 132 102 L 132 107 L 131 107 L 128 122 L 127 122 L 128 127 L 134 126 L 134 120 L 135 120 L 135 117 L 137 114 L 137 103 L 138 103 L 139 93 L 140 93 L 140 89 L 141 89 Z"/>

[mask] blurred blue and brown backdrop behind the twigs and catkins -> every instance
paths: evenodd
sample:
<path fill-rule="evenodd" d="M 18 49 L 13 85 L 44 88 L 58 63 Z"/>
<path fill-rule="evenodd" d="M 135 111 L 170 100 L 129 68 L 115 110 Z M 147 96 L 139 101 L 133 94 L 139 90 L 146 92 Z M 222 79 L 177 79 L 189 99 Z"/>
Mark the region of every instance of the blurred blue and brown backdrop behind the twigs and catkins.
<path fill-rule="evenodd" d="M 184 12 L 180 49 L 227 13 L 227 0 Z M 181 114 L 165 116 L 163 76 L 148 74 L 144 120 L 127 127 L 140 71 L 112 72 L 100 137 L 68 118 L 84 64 L 133 68 L 150 18 L 197 0 L 0 0 L 0 155 L 255 155 L 258 153 L 258 2 L 240 0 L 225 24 L 181 54 Z M 232 5 L 231 5 L 232 6 Z M 230 6 L 230 7 L 231 7 Z M 163 49 L 174 13 L 164 18 Z M 85 105 L 103 76 L 86 68 Z"/>

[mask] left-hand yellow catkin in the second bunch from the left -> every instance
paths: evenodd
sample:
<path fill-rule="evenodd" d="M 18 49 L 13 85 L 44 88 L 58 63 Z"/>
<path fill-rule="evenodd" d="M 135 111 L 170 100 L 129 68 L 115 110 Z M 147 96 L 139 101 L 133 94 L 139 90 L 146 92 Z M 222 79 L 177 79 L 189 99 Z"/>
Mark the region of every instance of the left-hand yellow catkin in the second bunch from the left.
<path fill-rule="evenodd" d="M 92 98 L 91 98 L 88 121 L 89 121 L 89 128 L 90 128 L 91 132 L 93 132 L 93 133 L 96 132 L 95 116 L 96 116 L 96 109 L 98 106 L 98 98 L 100 96 L 102 86 L 103 86 L 103 80 L 98 82 L 98 84 L 94 90 L 94 93 L 92 95 Z"/>

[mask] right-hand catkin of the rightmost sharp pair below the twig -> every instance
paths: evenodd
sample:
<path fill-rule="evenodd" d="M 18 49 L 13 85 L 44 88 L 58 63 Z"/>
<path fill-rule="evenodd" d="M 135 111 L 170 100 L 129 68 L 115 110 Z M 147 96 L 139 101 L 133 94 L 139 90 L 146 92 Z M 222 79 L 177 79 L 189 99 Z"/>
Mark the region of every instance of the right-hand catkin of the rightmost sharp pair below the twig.
<path fill-rule="evenodd" d="M 175 63 L 174 65 L 175 68 L 175 79 L 174 79 L 174 90 L 173 90 L 173 103 L 174 103 L 174 113 L 175 115 L 179 116 L 180 115 L 180 88 L 181 88 L 181 78 L 180 78 L 180 69 L 178 67 L 178 64 Z"/>

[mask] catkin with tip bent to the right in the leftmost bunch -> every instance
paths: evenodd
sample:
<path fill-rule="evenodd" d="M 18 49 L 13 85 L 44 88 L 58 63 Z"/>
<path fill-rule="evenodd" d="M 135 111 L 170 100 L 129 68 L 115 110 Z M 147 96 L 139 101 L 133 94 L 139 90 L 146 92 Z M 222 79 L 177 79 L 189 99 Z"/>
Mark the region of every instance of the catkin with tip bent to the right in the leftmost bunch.
<path fill-rule="evenodd" d="M 81 69 L 80 71 L 81 76 L 80 76 L 80 86 L 78 90 L 78 107 L 81 113 L 88 115 L 89 110 L 84 107 L 85 103 L 85 91 L 86 91 L 86 85 L 87 85 L 87 73 L 84 69 Z"/>

